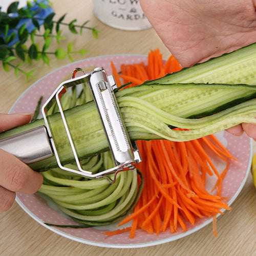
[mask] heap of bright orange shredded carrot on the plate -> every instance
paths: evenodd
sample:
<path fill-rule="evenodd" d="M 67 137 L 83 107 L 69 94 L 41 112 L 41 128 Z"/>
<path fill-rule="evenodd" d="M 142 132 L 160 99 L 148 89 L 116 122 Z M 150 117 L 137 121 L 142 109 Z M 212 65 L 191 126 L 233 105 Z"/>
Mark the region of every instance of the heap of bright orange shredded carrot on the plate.
<path fill-rule="evenodd" d="M 132 82 L 130 86 L 182 68 L 173 56 L 164 62 L 159 49 L 150 51 L 148 63 L 123 64 L 120 73 L 114 63 L 111 67 L 118 84 L 122 79 L 123 83 Z M 133 213 L 119 223 L 121 226 L 132 221 L 132 226 L 104 233 L 112 236 L 130 231 L 130 238 L 135 237 L 138 229 L 159 234 L 169 228 L 175 233 L 187 231 L 188 223 L 194 225 L 197 218 L 206 216 L 212 218 L 212 232 L 217 236 L 217 214 L 223 214 L 221 209 L 230 209 L 221 196 L 222 180 L 229 162 L 236 159 L 214 135 L 187 142 L 139 140 L 137 145 L 143 160 L 137 168 L 144 177 L 144 187 Z M 222 173 L 212 157 L 226 163 Z M 205 188 L 207 175 L 217 178 L 212 191 Z"/>

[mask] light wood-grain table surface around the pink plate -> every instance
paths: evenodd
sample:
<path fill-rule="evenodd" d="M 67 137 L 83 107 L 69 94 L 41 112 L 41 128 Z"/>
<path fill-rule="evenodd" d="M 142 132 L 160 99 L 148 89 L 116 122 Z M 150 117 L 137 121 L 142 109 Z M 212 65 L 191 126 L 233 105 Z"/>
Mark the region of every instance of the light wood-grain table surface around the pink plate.
<path fill-rule="evenodd" d="M 67 13 L 66 20 L 76 18 L 78 23 L 90 20 L 88 25 L 97 26 L 99 39 L 91 32 L 84 31 L 82 36 L 71 34 L 62 28 L 62 34 L 69 38 L 62 42 L 74 42 L 74 49 L 85 48 L 88 52 L 74 55 L 75 60 L 106 54 L 148 54 L 151 49 L 159 48 L 163 57 L 170 53 L 153 29 L 143 31 L 123 31 L 101 23 L 93 14 L 91 0 L 52 0 L 56 13 L 55 20 Z M 52 47 L 57 44 L 52 41 Z M 32 66 L 23 65 L 26 71 L 35 69 L 36 79 L 67 65 L 70 60 L 51 58 L 50 67 L 42 62 Z M 26 76 L 14 72 L 0 71 L 0 112 L 8 113 L 11 106 L 36 79 L 26 80 Z M 212 235 L 208 225 L 189 236 L 152 247 L 136 249 L 101 248 L 81 244 L 46 229 L 14 203 L 7 212 L 0 214 L 0 254 L 1 255 L 252 255 L 256 254 L 256 189 L 249 175 L 241 194 L 232 204 L 232 210 L 218 218 L 218 237 Z"/>

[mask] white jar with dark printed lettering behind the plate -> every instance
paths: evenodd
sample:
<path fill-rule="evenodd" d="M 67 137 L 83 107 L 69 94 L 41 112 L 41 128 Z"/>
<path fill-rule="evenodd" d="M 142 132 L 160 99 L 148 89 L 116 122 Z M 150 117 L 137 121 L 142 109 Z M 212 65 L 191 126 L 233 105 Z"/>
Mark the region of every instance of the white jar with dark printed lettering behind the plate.
<path fill-rule="evenodd" d="M 122 30 L 151 28 L 139 0 L 93 0 L 94 13 L 101 22 Z"/>

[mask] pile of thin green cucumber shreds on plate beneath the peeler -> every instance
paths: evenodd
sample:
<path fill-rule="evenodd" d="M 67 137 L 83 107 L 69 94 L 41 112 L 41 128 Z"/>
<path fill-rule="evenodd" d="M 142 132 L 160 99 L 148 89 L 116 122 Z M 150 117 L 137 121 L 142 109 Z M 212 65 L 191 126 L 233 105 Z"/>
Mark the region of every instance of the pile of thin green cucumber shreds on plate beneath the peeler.
<path fill-rule="evenodd" d="M 90 96 L 86 96 L 86 88 L 83 87 L 78 98 L 75 90 L 72 90 L 72 94 L 65 94 L 65 97 L 61 98 L 63 108 L 69 109 L 91 100 Z M 57 111 L 55 105 L 51 111 Z M 93 173 L 114 166 L 110 152 L 84 159 L 81 164 L 84 169 Z M 73 164 L 69 163 L 67 166 L 72 168 Z M 61 211 L 81 223 L 72 227 L 107 225 L 119 220 L 132 209 L 142 189 L 142 185 L 138 188 L 136 170 L 119 173 L 114 184 L 105 179 L 89 180 L 60 168 L 42 172 L 42 175 L 44 184 L 40 187 L 39 193 L 50 197 Z"/>

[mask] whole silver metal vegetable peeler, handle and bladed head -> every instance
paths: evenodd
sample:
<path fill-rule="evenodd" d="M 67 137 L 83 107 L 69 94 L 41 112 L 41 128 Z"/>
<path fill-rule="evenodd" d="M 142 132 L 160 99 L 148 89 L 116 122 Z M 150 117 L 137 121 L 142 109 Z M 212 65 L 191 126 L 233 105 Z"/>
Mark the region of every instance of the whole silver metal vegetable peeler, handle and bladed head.
<path fill-rule="evenodd" d="M 75 75 L 78 71 L 83 72 L 83 75 L 76 77 Z M 71 131 L 66 121 L 60 100 L 67 92 L 68 88 L 75 87 L 82 83 L 88 83 L 90 86 L 115 164 L 113 168 L 95 174 L 82 168 L 78 157 L 79 153 L 77 152 L 75 143 L 72 139 Z M 67 172 L 79 174 L 90 179 L 103 177 L 110 183 L 114 183 L 119 172 L 123 170 L 134 170 L 135 164 L 141 162 L 136 142 L 131 142 L 125 129 L 114 94 L 114 89 L 116 88 L 117 86 L 114 76 L 108 76 L 102 67 L 95 68 L 88 73 L 85 73 L 80 68 L 76 68 L 72 73 L 72 78 L 60 83 L 44 105 L 42 105 L 41 112 L 45 125 L 0 140 L 0 148 L 13 154 L 26 164 L 31 164 L 55 156 L 58 166 Z M 52 136 L 48 111 L 51 106 L 56 103 L 68 137 L 69 145 L 67 146 L 72 148 L 72 153 L 76 162 L 75 168 L 67 167 L 61 163 L 59 152 Z M 109 177 L 110 174 L 114 174 L 113 179 Z"/>

